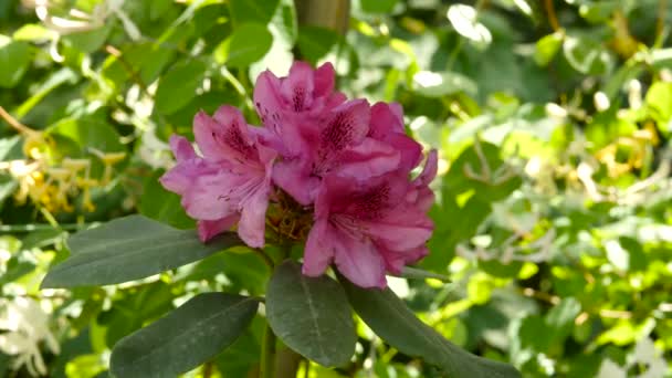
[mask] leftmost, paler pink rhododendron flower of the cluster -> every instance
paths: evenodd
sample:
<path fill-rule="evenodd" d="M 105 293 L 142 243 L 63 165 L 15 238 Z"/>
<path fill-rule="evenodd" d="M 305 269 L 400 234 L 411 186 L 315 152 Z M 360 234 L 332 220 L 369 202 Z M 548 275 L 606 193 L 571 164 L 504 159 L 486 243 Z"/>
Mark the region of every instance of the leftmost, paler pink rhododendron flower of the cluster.
<path fill-rule="evenodd" d="M 172 137 L 177 166 L 161 177 L 161 183 L 182 196 L 187 213 L 199 220 L 201 240 L 238 222 L 238 233 L 245 243 L 263 246 L 276 154 L 258 143 L 253 127 L 234 107 L 222 106 L 212 118 L 201 112 L 193 122 L 202 157 L 187 139 Z"/>

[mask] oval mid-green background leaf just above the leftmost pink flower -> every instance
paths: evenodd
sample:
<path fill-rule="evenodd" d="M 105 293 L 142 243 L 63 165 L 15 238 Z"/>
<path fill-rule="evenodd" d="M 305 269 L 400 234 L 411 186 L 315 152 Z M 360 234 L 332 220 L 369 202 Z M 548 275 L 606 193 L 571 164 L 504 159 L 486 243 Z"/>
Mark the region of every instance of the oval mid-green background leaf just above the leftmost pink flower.
<path fill-rule="evenodd" d="M 168 71 L 156 90 L 155 109 L 167 115 L 189 104 L 203 81 L 206 69 L 206 63 L 190 61 L 177 64 Z"/>

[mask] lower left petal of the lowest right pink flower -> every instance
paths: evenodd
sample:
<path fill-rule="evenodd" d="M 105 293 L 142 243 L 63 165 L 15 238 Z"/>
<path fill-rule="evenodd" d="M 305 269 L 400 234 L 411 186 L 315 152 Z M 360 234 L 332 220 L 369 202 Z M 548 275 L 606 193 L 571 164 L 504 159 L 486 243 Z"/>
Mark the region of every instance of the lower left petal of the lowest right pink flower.
<path fill-rule="evenodd" d="M 315 277 L 324 274 L 334 260 L 334 249 L 328 244 L 330 238 L 327 237 L 327 224 L 325 219 L 317 220 L 308 233 L 302 269 L 305 275 Z"/>

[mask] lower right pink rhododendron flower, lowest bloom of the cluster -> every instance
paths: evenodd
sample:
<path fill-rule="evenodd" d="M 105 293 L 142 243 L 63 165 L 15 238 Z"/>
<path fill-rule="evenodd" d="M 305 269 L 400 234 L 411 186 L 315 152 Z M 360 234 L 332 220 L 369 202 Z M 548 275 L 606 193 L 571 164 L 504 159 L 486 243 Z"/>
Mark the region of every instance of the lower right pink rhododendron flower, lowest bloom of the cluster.
<path fill-rule="evenodd" d="M 321 275 L 335 262 L 353 283 L 385 287 L 386 272 L 399 274 L 406 264 L 424 256 L 433 229 L 424 189 L 435 175 L 435 159 L 430 154 L 426 169 L 412 182 L 403 171 L 359 183 L 327 177 L 315 201 L 304 274 Z"/>

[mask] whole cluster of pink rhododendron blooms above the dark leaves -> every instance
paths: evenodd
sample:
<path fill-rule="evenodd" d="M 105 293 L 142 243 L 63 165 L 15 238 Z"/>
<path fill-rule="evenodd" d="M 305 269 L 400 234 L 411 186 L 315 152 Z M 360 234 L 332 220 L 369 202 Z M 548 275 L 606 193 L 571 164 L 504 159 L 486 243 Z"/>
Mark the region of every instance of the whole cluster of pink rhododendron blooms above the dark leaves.
<path fill-rule="evenodd" d="M 437 153 L 411 179 L 422 147 L 405 134 L 401 106 L 347 99 L 334 76 L 328 63 L 313 70 L 295 62 L 286 77 L 262 73 L 254 104 L 263 127 L 231 106 L 212 117 L 200 112 L 200 155 L 172 136 L 177 165 L 161 183 L 182 197 L 201 240 L 238 224 L 253 248 L 264 245 L 266 209 L 282 190 L 313 209 L 304 274 L 318 276 L 335 263 L 359 286 L 385 287 L 386 272 L 399 274 L 428 253 Z"/>

